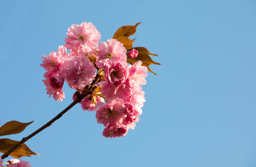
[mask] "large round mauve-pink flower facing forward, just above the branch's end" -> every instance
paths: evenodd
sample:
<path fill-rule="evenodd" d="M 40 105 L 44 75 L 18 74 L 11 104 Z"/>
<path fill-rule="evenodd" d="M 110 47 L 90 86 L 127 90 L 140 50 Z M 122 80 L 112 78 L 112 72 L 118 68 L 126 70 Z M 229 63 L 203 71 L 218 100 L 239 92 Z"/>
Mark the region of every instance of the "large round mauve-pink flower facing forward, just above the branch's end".
<path fill-rule="evenodd" d="M 86 56 L 72 57 L 65 64 L 63 76 L 70 88 L 83 90 L 86 85 L 92 83 L 96 76 L 95 67 Z"/>

